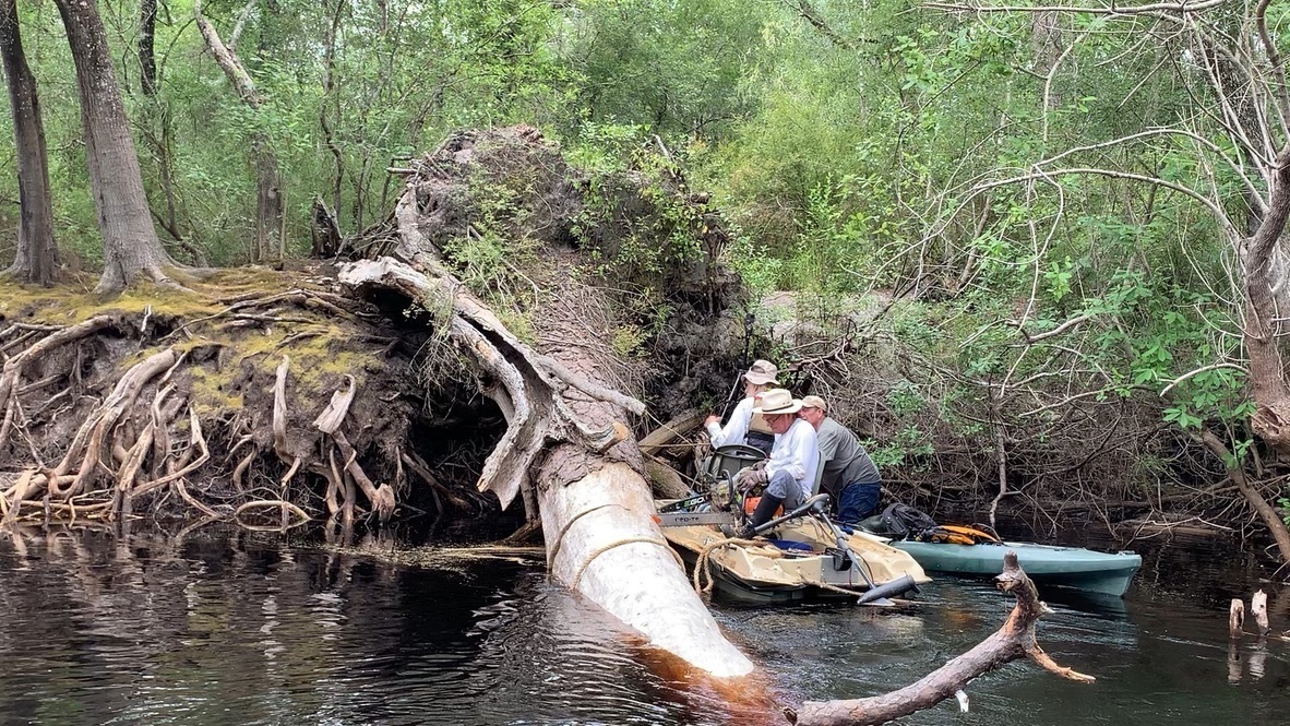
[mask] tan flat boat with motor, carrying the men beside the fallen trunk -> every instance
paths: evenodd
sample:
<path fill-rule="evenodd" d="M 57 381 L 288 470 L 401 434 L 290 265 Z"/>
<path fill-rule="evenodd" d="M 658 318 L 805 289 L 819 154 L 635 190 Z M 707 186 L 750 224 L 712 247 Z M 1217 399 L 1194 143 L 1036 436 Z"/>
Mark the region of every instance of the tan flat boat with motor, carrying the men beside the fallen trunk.
<path fill-rule="evenodd" d="M 824 521 L 797 517 L 778 524 L 756 545 L 721 545 L 730 538 L 715 525 L 666 526 L 663 536 L 689 566 L 704 560 L 713 594 L 730 602 L 888 603 L 888 597 L 931 582 L 913 557 L 875 538 L 842 534 L 854 553 L 849 557 L 829 530 Z"/>

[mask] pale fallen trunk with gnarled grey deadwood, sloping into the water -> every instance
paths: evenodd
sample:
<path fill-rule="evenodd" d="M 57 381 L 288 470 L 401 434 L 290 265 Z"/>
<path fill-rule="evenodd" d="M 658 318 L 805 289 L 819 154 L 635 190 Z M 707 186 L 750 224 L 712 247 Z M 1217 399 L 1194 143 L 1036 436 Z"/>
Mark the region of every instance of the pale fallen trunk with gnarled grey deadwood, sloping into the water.
<path fill-rule="evenodd" d="M 400 232 L 414 233 L 404 219 Z M 507 419 L 480 491 L 493 491 L 503 507 L 525 493 L 529 504 L 530 472 L 538 472 L 531 502 L 541 513 L 529 515 L 542 518 L 556 582 L 695 668 L 716 677 L 751 673 L 752 662 L 721 634 L 651 518 L 640 451 L 622 422 L 644 406 L 579 371 L 579 361 L 556 360 L 519 340 L 424 248 L 422 253 L 418 267 L 435 277 L 382 258 L 348 264 L 339 279 L 359 294 L 395 290 L 424 309 L 448 308 L 439 325 L 477 365 L 484 393 Z"/>

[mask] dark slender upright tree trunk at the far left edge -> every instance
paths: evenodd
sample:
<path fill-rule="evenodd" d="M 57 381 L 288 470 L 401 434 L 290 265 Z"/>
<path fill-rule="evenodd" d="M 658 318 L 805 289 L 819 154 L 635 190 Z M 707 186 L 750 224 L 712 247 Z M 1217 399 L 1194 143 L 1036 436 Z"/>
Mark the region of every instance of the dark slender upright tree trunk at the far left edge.
<path fill-rule="evenodd" d="M 49 285 L 58 270 L 49 161 L 40 120 L 36 77 L 27 67 L 15 0 L 0 0 L 0 57 L 9 80 L 9 108 L 18 161 L 18 255 L 9 272 L 25 282 Z"/>

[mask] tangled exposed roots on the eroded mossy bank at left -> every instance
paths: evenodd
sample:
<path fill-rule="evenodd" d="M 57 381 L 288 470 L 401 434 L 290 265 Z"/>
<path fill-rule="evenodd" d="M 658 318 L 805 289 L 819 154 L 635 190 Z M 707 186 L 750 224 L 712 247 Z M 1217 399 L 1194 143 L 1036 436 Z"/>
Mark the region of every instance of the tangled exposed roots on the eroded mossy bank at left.
<path fill-rule="evenodd" d="M 59 304 L 57 294 L 48 304 Z M 107 304 L 137 303 L 126 297 Z M 295 526 L 319 516 L 307 504 L 319 494 L 326 515 L 339 515 L 348 527 L 369 503 L 374 518 L 388 520 L 408 491 L 432 500 L 440 513 L 486 508 L 457 489 L 466 484 L 461 478 L 444 484 L 410 451 L 428 486 L 404 486 L 402 446 L 386 449 L 382 437 L 401 436 L 409 419 L 400 417 L 418 411 L 402 402 L 401 389 L 388 388 L 401 380 L 397 368 L 373 374 L 379 369 L 366 362 L 369 355 L 373 362 L 395 357 L 401 343 L 372 325 L 381 316 L 302 288 L 237 295 L 218 312 L 187 321 L 174 312 L 186 304 L 148 302 L 133 313 L 112 309 L 70 326 L 0 316 L 0 522 L 120 518 L 148 508 L 228 520 L 240 503 L 257 498 L 290 503 L 295 508 L 281 509 L 279 526 Z M 379 347 L 369 353 L 368 342 Z M 134 351 L 142 353 L 129 360 Z M 273 361 L 276 371 L 263 370 L 279 351 L 290 357 Z M 343 377 L 346 386 L 324 406 L 324 387 L 335 379 L 324 366 L 352 362 L 364 366 L 364 382 L 372 379 L 370 393 L 353 375 Z M 257 382 L 262 373 L 267 387 Z M 248 391 L 272 397 L 245 398 Z M 320 409 L 320 426 L 310 426 Z M 201 473 L 213 456 L 226 468 Z M 395 473 L 386 484 L 377 472 Z M 258 518 L 252 511 L 241 518 L 248 517 Z"/>

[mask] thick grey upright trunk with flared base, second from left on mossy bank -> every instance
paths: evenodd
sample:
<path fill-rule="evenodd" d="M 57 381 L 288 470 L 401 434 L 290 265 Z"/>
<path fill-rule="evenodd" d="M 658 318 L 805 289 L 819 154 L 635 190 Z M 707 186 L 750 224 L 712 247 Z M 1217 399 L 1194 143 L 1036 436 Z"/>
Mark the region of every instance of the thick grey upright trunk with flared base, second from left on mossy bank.
<path fill-rule="evenodd" d="M 143 173 L 97 0 L 55 0 L 55 4 L 76 64 L 85 159 L 103 233 L 103 276 L 97 291 L 119 291 L 144 275 L 156 282 L 174 285 L 166 276 L 174 262 L 152 227 Z"/>

